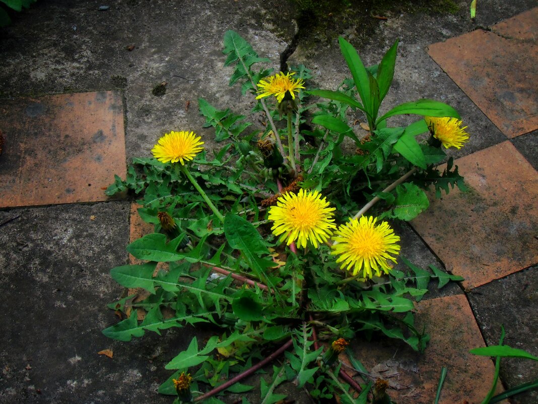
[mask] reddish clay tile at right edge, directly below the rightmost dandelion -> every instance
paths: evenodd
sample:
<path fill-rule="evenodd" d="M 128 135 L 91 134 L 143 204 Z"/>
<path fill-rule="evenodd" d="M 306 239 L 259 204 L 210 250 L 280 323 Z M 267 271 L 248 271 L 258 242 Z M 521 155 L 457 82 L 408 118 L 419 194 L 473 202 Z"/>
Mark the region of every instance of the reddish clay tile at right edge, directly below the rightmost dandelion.
<path fill-rule="evenodd" d="M 511 142 L 459 158 L 468 192 L 430 194 L 413 227 L 473 288 L 538 262 L 538 172 Z"/>

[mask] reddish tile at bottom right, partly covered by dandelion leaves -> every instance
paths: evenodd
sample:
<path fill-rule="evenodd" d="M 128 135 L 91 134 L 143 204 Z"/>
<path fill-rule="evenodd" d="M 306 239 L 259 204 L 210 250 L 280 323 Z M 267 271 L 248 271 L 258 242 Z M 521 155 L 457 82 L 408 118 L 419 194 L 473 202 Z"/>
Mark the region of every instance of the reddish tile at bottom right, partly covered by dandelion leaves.
<path fill-rule="evenodd" d="M 415 322 L 419 330 L 425 325 L 431 337 L 424 353 L 392 341 L 358 339 L 353 342 L 357 359 L 374 376 L 389 382 L 387 392 L 398 404 L 434 402 L 443 366 L 448 373 L 441 404 L 481 402 L 493 381 L 494 366 L 490 358 L 469 353 L 485 344 L 465 295 L 421 301 Z M 500 386 L 497 390 L 502 391 Z"/>

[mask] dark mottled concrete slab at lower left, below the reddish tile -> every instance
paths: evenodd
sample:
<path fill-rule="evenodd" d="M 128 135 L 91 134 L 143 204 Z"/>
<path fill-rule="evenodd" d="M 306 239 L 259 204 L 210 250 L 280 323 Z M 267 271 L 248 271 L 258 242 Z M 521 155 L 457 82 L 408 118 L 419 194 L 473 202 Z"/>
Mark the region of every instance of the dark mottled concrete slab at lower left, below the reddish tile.
<path fill-rule="evenodd" d="M 192 329 L 130 343 L 101 333 L 118 321 L 109 270 L 126 263 L 128 215 L 125 202 L 0 212 L 18 216 L 0 231 L 0 403 L 171 402 L 156 390 Z"/>

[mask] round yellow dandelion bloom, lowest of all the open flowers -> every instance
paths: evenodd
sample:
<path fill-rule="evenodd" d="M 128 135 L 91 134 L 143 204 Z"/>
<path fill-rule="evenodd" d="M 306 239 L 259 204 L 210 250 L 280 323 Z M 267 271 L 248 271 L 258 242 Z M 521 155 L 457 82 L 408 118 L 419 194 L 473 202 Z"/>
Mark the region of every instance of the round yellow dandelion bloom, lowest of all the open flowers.
<path fill-rule="evenodd" d="M 391 255 L 399 254 L 400 246 L 396 242 L 400 237 L 394 234 L 386 221 L 376 225 L 377 218 L 361 217 L 350 219 L 345 225 L 340 226 L 332 237 L 336 241 L 332 245 L 331 254 L 339 255 L 336 262 L 342 262 L 341 268 L 357 275 L 363 271 L 364 278 L 380 276 L 381 271 L 388 274 L 391 267 L 387 260 L 396 262 Z"/>

